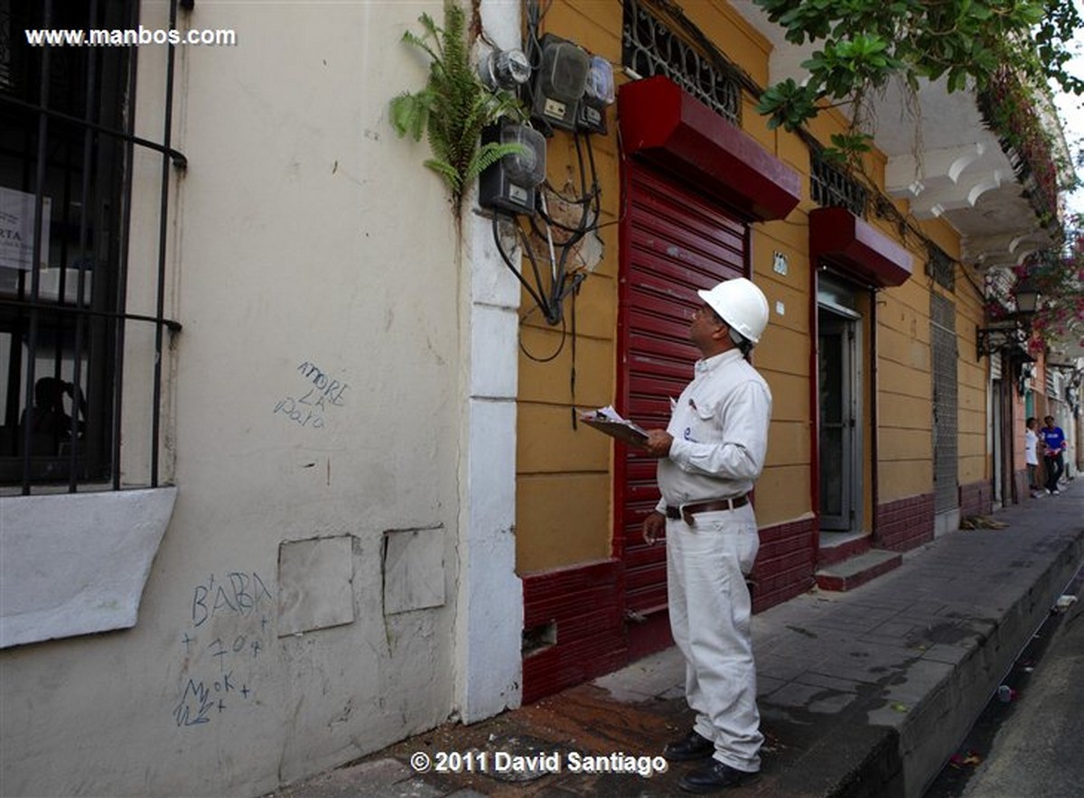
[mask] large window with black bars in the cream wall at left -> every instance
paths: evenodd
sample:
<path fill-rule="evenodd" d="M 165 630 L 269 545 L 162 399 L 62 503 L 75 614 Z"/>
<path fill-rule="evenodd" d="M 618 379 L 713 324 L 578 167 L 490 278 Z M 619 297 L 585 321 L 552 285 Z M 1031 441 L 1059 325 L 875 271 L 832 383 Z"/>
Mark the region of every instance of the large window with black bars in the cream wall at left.
<path fill-rule="evenodd" d="M 163 358 L 179 329 L 164 312 L 166 219 L 171 172 L 184 163 L 170 148 L 173 49 L 141 55 L 165 64 L 165 86 L 151 90 L 163 97 L 163 132 L 150 141 L 132 119 L 134 47 L 31 47 L 24 32 L 139 24 L 139 0 L 0 0 L 0 486 L 9 490 L 160 479 Z M 151 244 L 131 246 L 133 224 Z"/>

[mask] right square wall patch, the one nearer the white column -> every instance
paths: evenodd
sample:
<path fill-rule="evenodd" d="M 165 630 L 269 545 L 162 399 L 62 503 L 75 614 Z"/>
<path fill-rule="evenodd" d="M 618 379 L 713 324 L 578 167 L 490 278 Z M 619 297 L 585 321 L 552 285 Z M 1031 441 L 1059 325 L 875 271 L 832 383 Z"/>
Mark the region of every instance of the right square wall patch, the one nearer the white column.
<path fill-rule="evenodd" d="M 384 612 L 425 610 L 444 603 L 443 529 L 384 533 Z"/>

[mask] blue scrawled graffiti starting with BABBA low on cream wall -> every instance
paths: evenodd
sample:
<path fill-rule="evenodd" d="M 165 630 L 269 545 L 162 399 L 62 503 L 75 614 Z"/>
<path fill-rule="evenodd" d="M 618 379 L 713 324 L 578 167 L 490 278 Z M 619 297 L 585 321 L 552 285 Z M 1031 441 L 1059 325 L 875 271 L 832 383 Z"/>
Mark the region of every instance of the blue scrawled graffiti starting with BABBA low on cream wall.
<path fill-rule="evenodd" d="M 211 574 L 192 589 L 180 638 L 177 725 L 209 723 L 253 697 L 260 657 L 274 639 L 268 619 L 273 607 L 274 596 L 255 571 Z"/>

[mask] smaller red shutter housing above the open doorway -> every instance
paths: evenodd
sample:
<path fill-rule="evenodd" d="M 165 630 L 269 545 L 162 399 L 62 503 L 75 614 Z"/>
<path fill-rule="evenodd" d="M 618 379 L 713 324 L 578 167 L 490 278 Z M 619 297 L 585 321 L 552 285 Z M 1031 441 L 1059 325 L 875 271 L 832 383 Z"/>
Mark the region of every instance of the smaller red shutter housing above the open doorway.
<path fill-rule="evenodd" d="M 911 252 L 846 208 L 810 212 L 810 254 L 826 258 L 848 276 L 880 288 L 911 277 Z"/>

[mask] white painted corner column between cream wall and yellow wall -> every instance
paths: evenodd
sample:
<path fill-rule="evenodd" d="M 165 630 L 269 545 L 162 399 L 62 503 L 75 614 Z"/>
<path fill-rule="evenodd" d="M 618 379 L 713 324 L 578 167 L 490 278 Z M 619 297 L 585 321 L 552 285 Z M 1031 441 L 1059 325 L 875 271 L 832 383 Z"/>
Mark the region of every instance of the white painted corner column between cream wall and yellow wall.
<path fill-rule="evenodd" d="M 519 47 L 518 2 L 482 0 L 480 12 L 491 41 Z M 515 571 L 519 284 L 473 196 L 464 204 L 463 247 L 455 702 L 461 720 L 472 723 L 519 706 L 522 695 L 524 602 Z M 518 251 L 511 257 L 518 263 Z"/>

